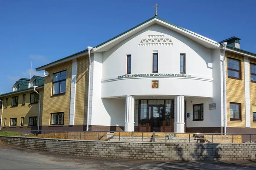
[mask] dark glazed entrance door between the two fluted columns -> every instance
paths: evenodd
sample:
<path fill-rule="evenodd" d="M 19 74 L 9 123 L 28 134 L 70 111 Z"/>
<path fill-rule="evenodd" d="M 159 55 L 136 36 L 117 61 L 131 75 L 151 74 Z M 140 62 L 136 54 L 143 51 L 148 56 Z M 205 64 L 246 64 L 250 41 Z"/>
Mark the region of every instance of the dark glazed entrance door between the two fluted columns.
<path fill-rule="evenodd" d="M 147 131 L 163 131 L 164 111 L 164 105 L 148 105 L 149 126 Z"/>

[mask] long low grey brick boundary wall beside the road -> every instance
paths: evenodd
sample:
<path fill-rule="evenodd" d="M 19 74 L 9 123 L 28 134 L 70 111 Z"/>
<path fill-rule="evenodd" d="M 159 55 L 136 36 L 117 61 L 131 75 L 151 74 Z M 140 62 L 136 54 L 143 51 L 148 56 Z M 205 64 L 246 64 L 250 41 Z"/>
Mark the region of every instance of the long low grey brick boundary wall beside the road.
<path fill-rule="evenodd" d="M 255 159 L 254 143 L 134 143 L 0 136 L 4 144 L 73 156 L 148 160 Z"/>

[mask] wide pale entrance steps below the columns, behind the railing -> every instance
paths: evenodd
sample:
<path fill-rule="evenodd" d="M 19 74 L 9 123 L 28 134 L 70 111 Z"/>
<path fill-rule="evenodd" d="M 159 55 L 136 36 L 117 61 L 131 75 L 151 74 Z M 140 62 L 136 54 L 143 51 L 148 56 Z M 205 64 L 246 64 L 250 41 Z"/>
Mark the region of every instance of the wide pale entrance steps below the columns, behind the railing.
<path fill-rule="evenodd" d="M 107 133 L 107 141 L 109 142 L 159 142 L 159 143 L 189 143 L 189 137 L 142 137 L 141 136 L 114 136 L 114 133 Z M 196 143 L 197 140 L 194 137 L 190 137 L 190 143 Z"/>

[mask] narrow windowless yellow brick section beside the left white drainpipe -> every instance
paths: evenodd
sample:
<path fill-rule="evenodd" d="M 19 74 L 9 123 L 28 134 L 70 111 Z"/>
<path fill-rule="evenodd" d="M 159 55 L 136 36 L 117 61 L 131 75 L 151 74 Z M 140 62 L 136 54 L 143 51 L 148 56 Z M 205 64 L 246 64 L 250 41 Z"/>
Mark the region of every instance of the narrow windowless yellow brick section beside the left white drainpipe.
<path fill-rule="evenodd" d="M 75 125 L 87 125 L 88 56 L 77 59 Z"/>

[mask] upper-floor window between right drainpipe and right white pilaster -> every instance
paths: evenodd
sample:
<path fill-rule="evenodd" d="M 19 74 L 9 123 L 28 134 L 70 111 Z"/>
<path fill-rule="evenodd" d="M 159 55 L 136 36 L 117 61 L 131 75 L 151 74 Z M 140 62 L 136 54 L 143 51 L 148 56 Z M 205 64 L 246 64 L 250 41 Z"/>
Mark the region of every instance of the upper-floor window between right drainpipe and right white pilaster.
<path fill-rule="evenodd" d="M 240 60 L 227 58 L 227 76 L 229 78 L 241 79 Z"/>

